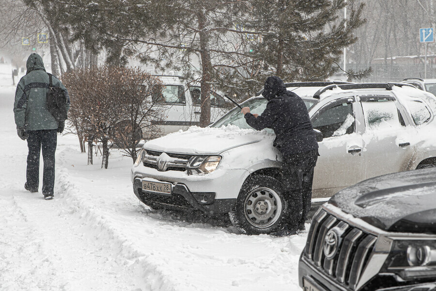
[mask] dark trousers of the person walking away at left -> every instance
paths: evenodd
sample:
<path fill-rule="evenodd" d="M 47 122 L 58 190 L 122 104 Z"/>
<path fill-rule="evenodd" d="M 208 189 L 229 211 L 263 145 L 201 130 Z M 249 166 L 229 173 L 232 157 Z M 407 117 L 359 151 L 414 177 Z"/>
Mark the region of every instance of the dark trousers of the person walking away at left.
<path fill-rule="evenodd" d="M 39 157 L 42 149 L 44 160 L 42 192 L 44 195 L 53 195 L 57 144 L 56 129 L 29 130 L 28 132 L 27 185 L 31 189 L 39 188 Z"/>

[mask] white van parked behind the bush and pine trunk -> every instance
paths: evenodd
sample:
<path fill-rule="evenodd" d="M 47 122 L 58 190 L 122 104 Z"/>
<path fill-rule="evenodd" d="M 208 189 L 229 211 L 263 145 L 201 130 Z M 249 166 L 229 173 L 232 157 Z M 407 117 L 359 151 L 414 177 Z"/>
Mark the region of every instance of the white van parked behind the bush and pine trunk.
<path fill-rule="evenodd" d="M 165 105 L 166 110 L 162 121 L 153 124 L 161 127 L 162 135 L 186 130 L 192 125 L 200 124 L 200 92 L 198 82 L 187 82 L 179 76 L 156 76 L 165 85 L 162 95 L 154 100 L 157 104 Z M 228 110 L 225 107 L 225 99 L 217 92 L 211 91 L 210 95 L 210 121 L 216 121 Z"/>

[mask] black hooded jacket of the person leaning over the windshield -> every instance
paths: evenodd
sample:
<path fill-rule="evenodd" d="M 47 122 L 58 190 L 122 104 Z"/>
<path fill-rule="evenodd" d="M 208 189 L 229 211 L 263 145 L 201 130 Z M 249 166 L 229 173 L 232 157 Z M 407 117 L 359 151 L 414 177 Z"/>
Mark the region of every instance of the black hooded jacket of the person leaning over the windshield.
<path fill-rule="evenodd" d="M 303 99 L 287 91 L 279 77 L 269 77 L 262 93 L 268 100 L 265 111 L 258 117 L 245 114 L 245 120 L 254 129 L 273 129 L 274 146 L 282 155 L 294 155 L 318 148 L 309 113 Z"/>

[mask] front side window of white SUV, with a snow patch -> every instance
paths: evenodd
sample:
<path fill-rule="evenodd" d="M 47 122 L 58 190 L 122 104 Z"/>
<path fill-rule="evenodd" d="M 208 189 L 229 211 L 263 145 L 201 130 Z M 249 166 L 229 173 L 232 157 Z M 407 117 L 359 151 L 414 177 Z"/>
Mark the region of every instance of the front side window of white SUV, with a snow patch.
<path fill-rule="evenodd" d="M 343 102 L 322 110 L 314 116 L 312 125 L 314 129 L 321 131 L 325 138 L 353 133 L 353 105 Z"/>

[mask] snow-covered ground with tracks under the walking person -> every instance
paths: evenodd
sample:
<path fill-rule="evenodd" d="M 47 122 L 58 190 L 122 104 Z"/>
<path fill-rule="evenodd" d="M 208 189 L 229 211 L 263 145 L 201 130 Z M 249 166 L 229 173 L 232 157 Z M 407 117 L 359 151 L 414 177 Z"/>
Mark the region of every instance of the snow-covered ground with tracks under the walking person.
<path fill-rule="evenodd" d="M 55 199 L 25 191 L 27 143 L 16 135 L 10 79 L 0 74 L 1 291 L 299 290 L 306 233 L 246 236 L 151 211 L 133 194 L 131 159 L 117 150 L 104 170 L 99 155 L 87 165 L 75 135 L 58 136 Z"/>

